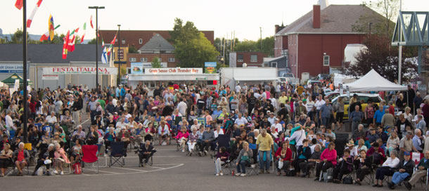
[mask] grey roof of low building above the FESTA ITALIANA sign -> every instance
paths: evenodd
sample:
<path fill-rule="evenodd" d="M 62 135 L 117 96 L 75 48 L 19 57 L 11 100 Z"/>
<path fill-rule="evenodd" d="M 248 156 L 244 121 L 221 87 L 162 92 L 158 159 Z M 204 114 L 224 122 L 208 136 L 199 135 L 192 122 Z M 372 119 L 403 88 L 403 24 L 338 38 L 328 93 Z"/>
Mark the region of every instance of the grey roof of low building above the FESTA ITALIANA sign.
<path fill-rule="evenodd" d="M 0 61 L 23 61 L 22 44 L 0 44 Z M 101 62 L 101 45 L 98 45 L 98 62 Z M 63 44 L 28 44 L 27 59 L 31 63 L 95 62 L 95 44 L 76 44 L 75 51 L 63 59 Z"/>

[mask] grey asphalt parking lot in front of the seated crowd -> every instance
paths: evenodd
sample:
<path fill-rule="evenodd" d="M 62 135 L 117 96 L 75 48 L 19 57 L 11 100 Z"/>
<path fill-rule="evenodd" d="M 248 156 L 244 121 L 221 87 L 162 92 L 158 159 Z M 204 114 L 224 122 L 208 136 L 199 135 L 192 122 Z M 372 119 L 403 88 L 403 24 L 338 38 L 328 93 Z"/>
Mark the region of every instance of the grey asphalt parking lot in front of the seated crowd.
<path fill-rule="evenodd" d="M 84 116 L 84 125 L 89 121 Z M 79 175 L 63 176 L 6 176 L 0 178 L 1 190 L 389 190 L 385 184 L 374 188 L 367 183 L 363 185 L 343 185 L 319 183 L 311 178 L 276 176 L 275 173 L 236 177 L 227 171 L 224 176 L 214 176 L 214 161 L 209 156 L 192 157 L 184 152 L 177 152 L 175 142 L 172 145 L 160 146 L 155 141 L 153 166 L 139 167 L 138 156 L 134 150 L 127 153 L 125 166 L 115 164 L 105 166 L 105 160 L 99 159 L 98 173 L 86 164 Z M 34 166 L 30 166 L 30 174 Z M 26 171 L 25 171 L 26 173 Z M 68 173 L 68 169 L 65 169 Z M 368 176 L 367 176 L 368 178 Z M 406 190 L 404 186 L 397 190 Z M 417 184 L 413 190 L 424 190 L 424 185 Z"/>

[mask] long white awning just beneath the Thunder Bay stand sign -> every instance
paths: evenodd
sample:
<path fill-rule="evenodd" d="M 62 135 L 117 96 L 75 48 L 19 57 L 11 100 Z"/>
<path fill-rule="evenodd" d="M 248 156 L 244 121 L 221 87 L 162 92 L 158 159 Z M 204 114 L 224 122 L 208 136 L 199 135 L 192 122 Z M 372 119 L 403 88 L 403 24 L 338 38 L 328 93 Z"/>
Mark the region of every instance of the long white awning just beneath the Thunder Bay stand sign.
<path fill-rule="evenodd" d="M 129 81 L 210 81 L 219 80 L 219 74 L 193 74 L 193 75 L 128 75 Z"/>

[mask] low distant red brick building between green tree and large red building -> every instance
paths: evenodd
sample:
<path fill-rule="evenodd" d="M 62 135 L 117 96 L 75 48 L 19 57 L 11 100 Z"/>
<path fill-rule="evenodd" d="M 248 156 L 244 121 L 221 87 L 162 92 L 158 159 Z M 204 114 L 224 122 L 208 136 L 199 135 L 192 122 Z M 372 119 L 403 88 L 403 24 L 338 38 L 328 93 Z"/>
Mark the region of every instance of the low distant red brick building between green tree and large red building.
<path fill-rule="evenodd" d="M 264 57 L 267 55 L 260 52 L 231 52 L 229 53 L 229 67 L 263 67 Z"/>

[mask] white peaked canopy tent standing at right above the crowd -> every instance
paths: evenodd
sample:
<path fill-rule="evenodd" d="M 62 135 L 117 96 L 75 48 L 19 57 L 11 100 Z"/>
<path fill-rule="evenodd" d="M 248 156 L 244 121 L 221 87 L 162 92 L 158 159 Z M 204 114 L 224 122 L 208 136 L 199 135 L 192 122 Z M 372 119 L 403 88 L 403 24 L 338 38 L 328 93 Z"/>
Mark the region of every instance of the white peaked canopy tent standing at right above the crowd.
<path fill-rule="evenodd" d="M 376 72 L 371 70 L 363 77 L 350 84 L 342 84 L 342 87 L 349 86 L 350 92 L 354 91 L 404 91 L 406 86 L 392 83 L 383 78 Z"/>

